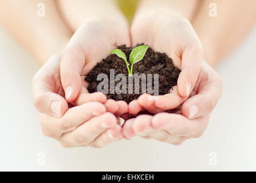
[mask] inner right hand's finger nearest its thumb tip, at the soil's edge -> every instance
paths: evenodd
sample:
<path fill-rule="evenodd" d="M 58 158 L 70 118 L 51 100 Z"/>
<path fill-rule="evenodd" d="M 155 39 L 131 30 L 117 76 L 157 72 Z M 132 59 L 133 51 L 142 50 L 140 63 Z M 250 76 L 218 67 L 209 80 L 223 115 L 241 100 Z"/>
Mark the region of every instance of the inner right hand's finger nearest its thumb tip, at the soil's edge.
<path fill-rule="evenodd" d="M 163 110 L 178 108 L 185 100 L 185 98 L 180 96 L 177 87 L 174 86 L 170 90 L 170 93 L 156 97 L 155 106 L 162 109 L 162 111 L 159 112 L 163 112 Z"/>

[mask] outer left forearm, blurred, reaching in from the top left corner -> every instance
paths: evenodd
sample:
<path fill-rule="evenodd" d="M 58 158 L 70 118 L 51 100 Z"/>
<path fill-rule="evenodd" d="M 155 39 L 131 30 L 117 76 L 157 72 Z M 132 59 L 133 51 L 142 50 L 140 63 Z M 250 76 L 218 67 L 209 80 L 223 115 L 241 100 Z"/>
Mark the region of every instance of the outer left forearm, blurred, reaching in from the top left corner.
<path fill-rule="evenodd" d="M 38 17 L 38 3 L 45 4 L 45 17 Z M 0 20 L 41 63 L 62 50 L 71 36 L 52 0 L 1 0 Z"/>

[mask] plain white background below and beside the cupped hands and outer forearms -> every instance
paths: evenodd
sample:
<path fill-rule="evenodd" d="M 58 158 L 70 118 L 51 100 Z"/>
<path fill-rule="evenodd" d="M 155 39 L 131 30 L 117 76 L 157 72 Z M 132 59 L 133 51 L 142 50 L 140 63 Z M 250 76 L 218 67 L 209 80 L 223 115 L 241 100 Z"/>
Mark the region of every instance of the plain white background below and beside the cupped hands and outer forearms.
<path fill-rule="evenodd" d="M 0 170 L 256 170 L 256 27 L 216 68 L 224 88 L 206 132 L 180 146 L 136 137 L 103 149 L 62 148 L 43 136 L 33 106 L 40 66 L 2 27 L 0 40 Z"/>

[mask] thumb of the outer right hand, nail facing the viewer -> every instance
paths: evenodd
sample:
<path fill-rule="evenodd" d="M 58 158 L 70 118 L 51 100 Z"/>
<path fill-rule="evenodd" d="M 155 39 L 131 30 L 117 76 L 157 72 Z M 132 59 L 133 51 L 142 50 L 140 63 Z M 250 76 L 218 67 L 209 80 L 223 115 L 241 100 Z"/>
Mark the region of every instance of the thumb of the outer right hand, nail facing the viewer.
<path fill-rule="evenodd" d="M 209 79 L 198 90 L 198 94 L 188 98 L 182 105 L 182 114 L 188 119 L 204 116 L 212 112 L 221 96 L 222 82 L 219 78 Z"/>

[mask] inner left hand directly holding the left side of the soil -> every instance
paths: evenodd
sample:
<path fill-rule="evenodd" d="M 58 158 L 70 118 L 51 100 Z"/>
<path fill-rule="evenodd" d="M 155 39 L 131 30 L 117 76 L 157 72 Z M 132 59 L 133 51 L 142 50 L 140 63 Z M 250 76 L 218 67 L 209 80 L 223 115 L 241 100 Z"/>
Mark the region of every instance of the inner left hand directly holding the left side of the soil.
<path fill-rule="evenodd" d="M 65 98 L 74 105 L 88 101 L 105 104 L 108 112 L 121 115 L 128 112 L 124 101 L 107 100 L 103 93 L 90 94 L 84 80 L 90 70 L 107 57 L 115 45 L 130 46 L 127 22 L 122 17 L 88 19 L 70 39 L 61 59 L 61 83 Z M 106 101 L 107 100 L 107 101 Z"/>

